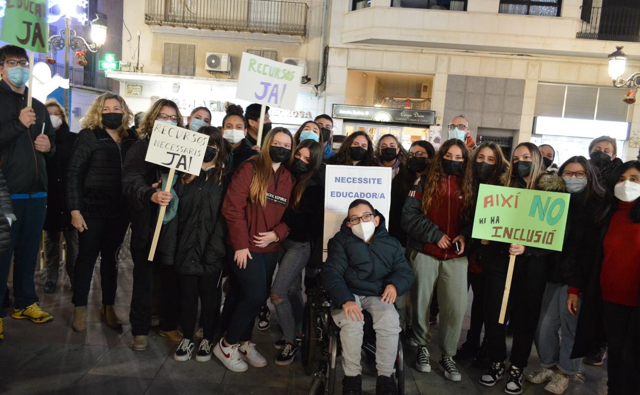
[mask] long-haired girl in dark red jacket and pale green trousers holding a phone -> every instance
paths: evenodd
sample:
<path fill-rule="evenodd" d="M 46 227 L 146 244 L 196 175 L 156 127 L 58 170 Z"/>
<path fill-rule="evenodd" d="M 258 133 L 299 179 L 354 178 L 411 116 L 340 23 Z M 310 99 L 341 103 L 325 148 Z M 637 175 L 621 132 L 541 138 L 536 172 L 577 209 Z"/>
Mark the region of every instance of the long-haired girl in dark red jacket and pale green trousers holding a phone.
<path fill-rule="evenodd" d="M 437 288 L 440 303 L 438 366 L 446 378 L 460 381 L 453 360 L 467 310 L 467 257 L 471 243 L 474 193 L 471 155 L 458 139 L 445 141 L 426 177 L 413 185 L 403 207 L 401 225 L 408 237 L 406 255 L 415 276 L 412 289 L 413 331 L 418 343 L 416 369 L 431 371 L 427 344 L 429 305 Z"/>

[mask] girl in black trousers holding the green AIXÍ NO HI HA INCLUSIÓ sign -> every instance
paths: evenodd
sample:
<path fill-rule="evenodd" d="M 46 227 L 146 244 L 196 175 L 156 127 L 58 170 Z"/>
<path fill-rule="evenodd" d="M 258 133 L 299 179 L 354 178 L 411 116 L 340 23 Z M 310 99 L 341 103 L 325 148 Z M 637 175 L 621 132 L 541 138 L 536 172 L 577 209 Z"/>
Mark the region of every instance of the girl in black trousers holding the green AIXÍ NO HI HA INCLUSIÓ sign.
<path fill-rule="evenodd" d="M 541 189 L 564 192 L 564 183 L 556 173 L 545 173 L 540 149 L 533 143 L 520 143 L 513 151 L 511 167 L 505 173 L 504 186 L 511 188 Z M 542 296 L 547 283 L 547 255 L 552 250 L 524 245 L 483 241 L 477 255 L 485 276 L 484 294 L 484 339 L 486 357 L 491 365 L 479 383 L 492 387 L 504 378 L 504 360 L 507 356 L 505 325 L 499 323 L 500 309 L 506 278 L 509 255 L 516 255 L 515 270 L 511 280 L 509 306 L 513 327 L 511 367 L 509 368 L 505 392 L 522 393 L 522 378 L 531 354 L 534 334 L 540 317 Z"/>

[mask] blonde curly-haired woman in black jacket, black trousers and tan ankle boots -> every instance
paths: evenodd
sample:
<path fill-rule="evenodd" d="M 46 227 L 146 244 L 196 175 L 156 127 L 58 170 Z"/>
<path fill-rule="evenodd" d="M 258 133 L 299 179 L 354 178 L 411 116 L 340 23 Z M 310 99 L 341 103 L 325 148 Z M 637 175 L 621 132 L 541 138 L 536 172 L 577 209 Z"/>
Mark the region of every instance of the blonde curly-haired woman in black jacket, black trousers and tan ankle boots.
<path fill-rule="evenodd" d="M 83 129 L 77 136 L 67 170 L 67 207 L 71 223 L 79 232 L 79 251 L 74 269 L 76 306 L 73 328 L 86 330 L 86 304 L 93 266 L 100 259 L 102 307 L 107 325 L 122 330 L 113 305 L 118 288 L 116 250 L 129 226 L 129 213 L 122 200 L 122 163 L 138 140 L 129 128 L 132 113 L 118 95 L 104 93 L 89 107 Z"/>

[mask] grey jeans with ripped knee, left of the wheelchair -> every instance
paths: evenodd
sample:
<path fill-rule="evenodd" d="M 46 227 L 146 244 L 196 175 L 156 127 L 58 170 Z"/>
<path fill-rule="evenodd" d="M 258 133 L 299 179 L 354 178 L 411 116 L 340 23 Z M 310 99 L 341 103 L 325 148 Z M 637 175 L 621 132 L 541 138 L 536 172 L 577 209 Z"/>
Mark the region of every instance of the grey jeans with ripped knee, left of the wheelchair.
<path fill-rule="evenodd" d="M 278 273 L 271 286 L 271 302 L 278 314 L 278 323 L 286 341 L 296 339 L 296 329 L 302 323 L 304 300 L 301 274 L 311 255 L 311 243 L 286 239 L 278 252 Z"/>

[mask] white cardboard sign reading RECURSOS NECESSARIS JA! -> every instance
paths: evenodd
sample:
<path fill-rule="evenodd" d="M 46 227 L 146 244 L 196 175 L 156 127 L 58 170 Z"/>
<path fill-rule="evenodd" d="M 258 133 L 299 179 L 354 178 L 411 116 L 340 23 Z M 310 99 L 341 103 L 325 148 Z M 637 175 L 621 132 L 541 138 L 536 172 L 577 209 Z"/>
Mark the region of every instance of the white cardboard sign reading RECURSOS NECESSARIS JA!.
<path fill-rule="evenodd" d="M 145 161 L 200 175 L 209 136 L 156 120 Z"/>

